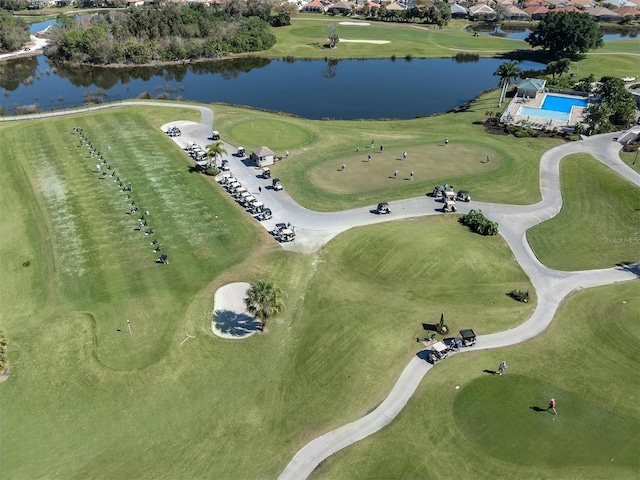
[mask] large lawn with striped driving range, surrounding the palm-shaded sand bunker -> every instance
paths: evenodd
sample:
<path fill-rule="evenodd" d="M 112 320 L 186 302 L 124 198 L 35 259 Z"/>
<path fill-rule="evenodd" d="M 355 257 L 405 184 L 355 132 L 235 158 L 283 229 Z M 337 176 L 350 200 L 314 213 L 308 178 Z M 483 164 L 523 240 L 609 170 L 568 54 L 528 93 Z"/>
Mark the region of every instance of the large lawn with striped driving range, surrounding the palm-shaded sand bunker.
<path fill-rule="evenodd" d="M 502 239 L 455 216 L 357 229 L 317 255 L 282 251 L 189 173 L 158 129 L 172 118 L 192 115 L 136 106 L 0 125 L 11 362 L 0 478 L 273 478 L 317 432 L 384 398 L 422 322 L 444 311 L 452 328 L 488 332 L 528 315 L 505 295 L 531 286 Z M 125 194 L 92 173 L 73 127 L 132 181 L 169 265 L 154 263 Z M 264 276 L 285 292 L 269 333 L 213 336 L 215 289 Z M 181 345 L 185 331 L 195 338 Z"/>

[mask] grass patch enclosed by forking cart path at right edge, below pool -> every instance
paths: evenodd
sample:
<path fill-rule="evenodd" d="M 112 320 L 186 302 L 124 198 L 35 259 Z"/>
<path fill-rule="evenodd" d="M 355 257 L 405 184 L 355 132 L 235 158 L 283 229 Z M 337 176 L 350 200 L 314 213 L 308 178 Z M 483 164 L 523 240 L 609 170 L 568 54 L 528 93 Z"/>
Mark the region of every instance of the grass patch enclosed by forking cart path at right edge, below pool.
<path fill-rule="evenodd" d="M 587 270 L 635 263 L 640 256 L 640 190 L 590 155 L 560 164 L 564 205 L 527 232 L 542 263 Z"/>

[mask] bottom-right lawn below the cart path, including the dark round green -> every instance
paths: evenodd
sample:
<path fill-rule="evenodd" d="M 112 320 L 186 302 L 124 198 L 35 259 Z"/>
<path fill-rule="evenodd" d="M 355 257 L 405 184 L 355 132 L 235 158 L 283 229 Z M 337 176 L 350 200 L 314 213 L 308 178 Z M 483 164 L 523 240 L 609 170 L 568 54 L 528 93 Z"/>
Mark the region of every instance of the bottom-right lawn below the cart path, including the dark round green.
<path fill-rule="evenodd" d="M 638 282 L 576 294 L 538 338 L 439 364 L 391 425 L 313 478 L 637 478 L 639 325 Z M 484 372 L 503 359 L 506 375 Z M 558 415 L 530 408 L 551 397 Z"/>

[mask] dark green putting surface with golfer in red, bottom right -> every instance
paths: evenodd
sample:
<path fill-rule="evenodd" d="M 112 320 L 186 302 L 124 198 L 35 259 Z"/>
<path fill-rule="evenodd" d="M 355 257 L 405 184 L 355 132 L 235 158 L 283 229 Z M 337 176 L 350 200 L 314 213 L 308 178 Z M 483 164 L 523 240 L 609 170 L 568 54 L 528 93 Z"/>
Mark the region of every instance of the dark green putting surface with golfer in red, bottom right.
<path fill-rule="evenodd" d="M 554 368 L 553 365 L 548 365 Z M 544 368 L 544 367 L 543 367 Z M 640 422 L 524 375 L 485 375 L 456 396 L 457 427 L 487 454 L 522 465 L 635 466 Z M 550 398 L 558 415 L 546 411 Z"/>

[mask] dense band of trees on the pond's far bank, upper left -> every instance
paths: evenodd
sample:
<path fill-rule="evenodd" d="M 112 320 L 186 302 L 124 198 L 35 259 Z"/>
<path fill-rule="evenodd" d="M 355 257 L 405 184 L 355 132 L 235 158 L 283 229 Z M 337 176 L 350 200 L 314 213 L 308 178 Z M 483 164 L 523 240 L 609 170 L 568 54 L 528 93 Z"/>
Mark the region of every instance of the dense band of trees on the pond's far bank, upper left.
<path fill-rule="evenodd" d="M 271 48 L 271 24 L 288 25 L 286 8 L 249 0 L 206 6 L 164 4 L 111 10 L 76 22 L 58 16 L 47 56 L 94 65 L 220 58 Z"/>

